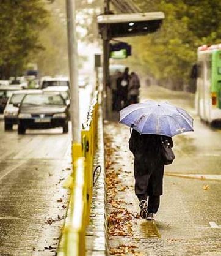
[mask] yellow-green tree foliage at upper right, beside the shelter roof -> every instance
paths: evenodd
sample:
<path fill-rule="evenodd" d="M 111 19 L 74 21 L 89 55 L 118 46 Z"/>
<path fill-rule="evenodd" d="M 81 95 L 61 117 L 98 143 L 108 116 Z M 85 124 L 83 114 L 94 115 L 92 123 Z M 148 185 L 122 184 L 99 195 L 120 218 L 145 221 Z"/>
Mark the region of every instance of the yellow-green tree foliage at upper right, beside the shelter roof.
<path fill-rule="evenodd" d="M 190 69 L 197 60 L 197 47 L 220 43 L 221 2 L 219 0 L 134 0 L 143 12 L 162 11 L 160 31 L 129 39 L 132 62 L 161 83 L 188 83 Z M 139 42 L 139 43 L 137 43 Z"/>

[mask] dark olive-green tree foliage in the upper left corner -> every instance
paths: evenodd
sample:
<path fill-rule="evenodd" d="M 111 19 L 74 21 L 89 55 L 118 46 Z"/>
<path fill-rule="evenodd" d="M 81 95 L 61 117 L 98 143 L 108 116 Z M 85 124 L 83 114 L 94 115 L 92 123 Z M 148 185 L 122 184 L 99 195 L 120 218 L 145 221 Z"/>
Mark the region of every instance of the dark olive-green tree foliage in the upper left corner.
<path fill-rule="evenodd" d="M 0 6 L 0 69 L 7 77 L 20 72 L 42 48 L 38 35 L 48 12 L 42 0 L 0 0 Z"/>

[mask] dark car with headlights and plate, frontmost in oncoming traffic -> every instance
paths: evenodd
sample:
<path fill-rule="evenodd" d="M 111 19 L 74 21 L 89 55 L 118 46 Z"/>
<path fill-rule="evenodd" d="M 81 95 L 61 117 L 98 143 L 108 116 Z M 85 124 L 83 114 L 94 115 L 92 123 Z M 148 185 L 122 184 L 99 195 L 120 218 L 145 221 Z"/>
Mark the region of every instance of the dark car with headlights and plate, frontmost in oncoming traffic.
<path fill-rule="evenodd" d="M 68 119 L 69 106 L 59 92 L 26 94 L 18 111 L 18 134 L 56 127 L 67 133 Z"/>

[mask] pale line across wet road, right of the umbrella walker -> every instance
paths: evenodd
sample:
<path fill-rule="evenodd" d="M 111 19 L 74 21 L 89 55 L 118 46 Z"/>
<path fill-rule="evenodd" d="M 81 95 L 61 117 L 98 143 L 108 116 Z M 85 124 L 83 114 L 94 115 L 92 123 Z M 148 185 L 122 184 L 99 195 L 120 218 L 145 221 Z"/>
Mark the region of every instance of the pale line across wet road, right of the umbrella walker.
<path fill-rule="evenodd" d="M 220 174 L 189 174 L 189 173 L 165 173 L 166 176 L 175 176 L 181 178 L 190 178 L 190 179 L 200 179 L 203 180 L 210 180 L 210 181 L 221 181 Z"/>

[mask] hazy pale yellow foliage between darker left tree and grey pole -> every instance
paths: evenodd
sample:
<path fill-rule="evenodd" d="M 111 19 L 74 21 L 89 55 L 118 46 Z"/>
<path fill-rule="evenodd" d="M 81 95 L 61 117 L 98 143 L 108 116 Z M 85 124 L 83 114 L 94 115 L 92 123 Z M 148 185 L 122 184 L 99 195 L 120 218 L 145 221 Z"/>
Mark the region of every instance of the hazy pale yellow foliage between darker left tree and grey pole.
<path fill-rule="evenodd" d="M 63 13 L 62 8 L 59 7 L 57 1 L 47 6 L 50 13 L 48 26 L 39 34 L 43 49 L 31 58 L 31 62 L 37 63 L 40 75 L 67 75 L 68 73 L 65 12 Z"/>

